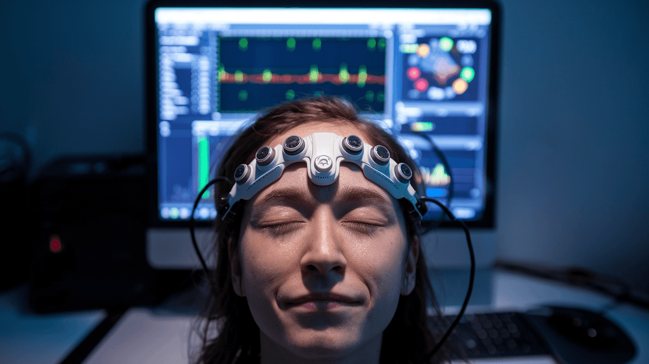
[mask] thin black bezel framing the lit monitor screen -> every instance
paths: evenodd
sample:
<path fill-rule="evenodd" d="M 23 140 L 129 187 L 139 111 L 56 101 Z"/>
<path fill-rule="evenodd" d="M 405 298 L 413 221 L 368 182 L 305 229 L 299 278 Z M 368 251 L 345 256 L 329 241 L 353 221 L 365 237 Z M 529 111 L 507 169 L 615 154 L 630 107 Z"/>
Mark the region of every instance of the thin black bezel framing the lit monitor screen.
<path fill-rule="evenodd" d="M 306 6 L 305 6 L 306 5 Z M 359 0 L 328 0 L 313 5 L 297 0 L 275 0 L 275 1 L 247 1 L 242 4 L 233 0 L 221 1 L 180 1 L 180 0 L 150 0 L 145 6 L 145 148 L 147 156 L 147 223 L 149 227 L 186 228 L 190 226 L 188 220 L 163 220 L 158 213 L 158 148 L 157 148 L 157 122 L 158 122 L 158 62 L 156 60 L 156 8 L 182 7 L 182 8 L 397 8 L 393 1 L 378 0 L 373 6 Z M 491 11 L 491 24 L 489 31 L 490 53 L 489 62 L 489 84 L 487 86 L 486 103 L 486 130 L 485 130 L 485 208 L 482 217 L 478 220 L 466 221 L 469 227 L 474 228 L 495 228 L 496 217 L 496 130 L 498 125 L 498 91 L 500 75 L 500 26 L 501 10 L 500 5 L 493 0 L 460 0 L 460 1 L 422 1 L 408 0 L 400 3 L 398 8 L 468 8 L 488 9 Z M 155 65 L 155 66 L 153 66 Z M 212 226 L 213 221 L 196 221 L 197 226 Z M 455 227 L 450 222 L 445 222 L 439 227 Z"/>

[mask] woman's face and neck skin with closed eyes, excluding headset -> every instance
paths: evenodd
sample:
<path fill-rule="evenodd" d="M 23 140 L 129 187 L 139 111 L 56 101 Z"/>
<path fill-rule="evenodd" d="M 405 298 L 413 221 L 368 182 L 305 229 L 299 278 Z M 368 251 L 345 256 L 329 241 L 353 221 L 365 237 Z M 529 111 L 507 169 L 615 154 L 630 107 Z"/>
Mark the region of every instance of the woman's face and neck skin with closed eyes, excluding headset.
<path fill-rule="evenodd" d="M 268 145 L 314 132 L 369 141 L 351 125 L 310 123 Z M 233 285 L 261 329 L 262 356 L 378 358 L 399 296 L 414 287 L 418 249 L 408 244 L 397 200 L 356 165 L 341 164 L 330 186 L 310 182 L 306 164 L 289 165 L 247 203 L 230 251 Z"/>

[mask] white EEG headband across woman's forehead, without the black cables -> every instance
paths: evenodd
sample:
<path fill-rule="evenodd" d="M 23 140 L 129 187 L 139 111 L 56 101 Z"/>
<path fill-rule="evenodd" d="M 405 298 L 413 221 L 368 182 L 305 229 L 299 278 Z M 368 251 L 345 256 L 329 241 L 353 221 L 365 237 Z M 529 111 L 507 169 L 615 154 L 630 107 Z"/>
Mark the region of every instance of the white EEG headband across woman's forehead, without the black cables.
<path fill-rule="evenodd" d="M 421 220 L 428 206 L 419 199 L 410 185 L 412 170 L 405 163 L 390 158 L 383 145 L 367 145 L 355 135 L 343 138 L 334 133 L 314 133 L 305 138 L 289 136 L 284 145 L 261 147 L 250 164 L 241 164 L 234 171 L 236 182 L 227 202 L 219 208 L 222 219 L 232 213 L 240 200 L 249 200 L 263 188 L 282 176 L 288 165 L 306 162 L 306 170 L 313 184 L 328 186 L 338 179 L 340 162 L 358 165 L 367 179 L 385 189 L 395 199 L 406 199 L 412 209 L 410 215 Z"/>

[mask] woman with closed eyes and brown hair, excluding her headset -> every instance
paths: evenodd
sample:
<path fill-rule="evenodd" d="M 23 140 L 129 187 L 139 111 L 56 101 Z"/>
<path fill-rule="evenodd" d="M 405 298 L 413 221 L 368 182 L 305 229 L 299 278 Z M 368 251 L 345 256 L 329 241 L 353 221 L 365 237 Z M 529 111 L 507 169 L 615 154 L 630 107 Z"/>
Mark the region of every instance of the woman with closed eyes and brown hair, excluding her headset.
<path fill-rule="evenodd" d="M 422 193 L 421 173 L 397 141 L 333 97 L 269 110 L 234 141 L 218 175 L 232 178 L 264 145 L 315 132 L 355 134 L 384 145 L 396 162 L 410 165 L 411 185 Z M 217 204 L 231 187 L 217 184 Z M 336 182 L 316 186 L 306 164 L 295 163 L 246 201 L 241 213 L 218 218 L 219 290 L 210 302 L 199 363 L 419 361 L 435 344 L 426 326 L 427 301 L 439 309 L 419 221 L 409 217 L 407 203 L 354 164 L 343 162 Z M 210 336 L 211 330 L 219 334 Z M 431 362 L 447 356 L 443 349 Z"/>

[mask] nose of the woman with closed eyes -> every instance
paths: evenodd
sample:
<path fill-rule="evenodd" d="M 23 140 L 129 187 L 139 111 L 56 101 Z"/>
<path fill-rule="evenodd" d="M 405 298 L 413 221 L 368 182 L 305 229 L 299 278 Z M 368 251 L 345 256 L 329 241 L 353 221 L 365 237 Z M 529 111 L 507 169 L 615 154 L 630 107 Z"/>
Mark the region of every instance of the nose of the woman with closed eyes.
<path fill-rule="evenodd" d="M 334 278 L 329 275 L 336 273 L 336 278 L 339 278 L 345 273 L 347 260 L 343 252 L 343 239 L 336 232 L 333 213 L 316 212 L 310 225 L 309 233 L 304 236 L 306 247 L 300 261 L 302 273 L 319 278 Z"/>

